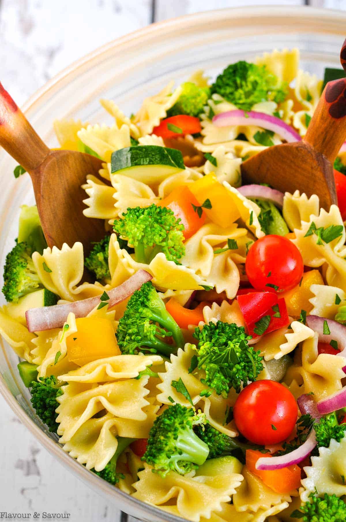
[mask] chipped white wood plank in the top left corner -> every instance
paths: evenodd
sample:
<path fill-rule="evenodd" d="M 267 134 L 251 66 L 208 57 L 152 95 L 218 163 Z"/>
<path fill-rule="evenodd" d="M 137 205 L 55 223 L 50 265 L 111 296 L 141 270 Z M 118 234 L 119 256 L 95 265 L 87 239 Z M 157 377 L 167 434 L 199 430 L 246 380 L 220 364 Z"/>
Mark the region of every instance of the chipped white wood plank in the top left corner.
<path fill-rule="evenodd" d="M 151 21 L 151 0 L 2 0 L 2 82 L 21 104 L 61 69 Z"/>

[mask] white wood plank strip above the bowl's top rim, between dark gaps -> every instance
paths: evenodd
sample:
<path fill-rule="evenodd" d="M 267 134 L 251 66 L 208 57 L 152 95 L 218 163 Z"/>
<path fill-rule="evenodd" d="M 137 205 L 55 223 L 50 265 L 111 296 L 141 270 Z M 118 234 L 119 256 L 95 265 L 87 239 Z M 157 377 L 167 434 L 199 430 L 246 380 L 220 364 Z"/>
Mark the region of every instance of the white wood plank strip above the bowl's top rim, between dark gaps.
<path fill-rule="evenodd" d="M 155 21 L 167 20 L 177 16 L 224 7 L 239 7 L 243 5 L 304 5 L 304 0 L 155 0 Z"/>

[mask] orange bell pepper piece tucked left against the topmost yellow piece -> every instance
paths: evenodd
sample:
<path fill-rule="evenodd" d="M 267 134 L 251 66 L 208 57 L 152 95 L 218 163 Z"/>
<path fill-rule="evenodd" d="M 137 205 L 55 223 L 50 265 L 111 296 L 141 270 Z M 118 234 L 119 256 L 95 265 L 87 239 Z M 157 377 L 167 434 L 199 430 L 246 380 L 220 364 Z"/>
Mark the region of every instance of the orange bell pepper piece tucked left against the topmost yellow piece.
<path fill-rule="evenodd" d="M 183 234 L 185 239 L 199 230 L 205 221 L 205 213 L 202 211 L 201 217 L 193 209 L 192 205 L 200 206 L 196 196 L 192 194 L 187 186 L 177 187 L 167 197 L 162 199 L 158 205 L 167 207 L 174 213 L 176 218 L 181 219 L 184 226 Z"/>

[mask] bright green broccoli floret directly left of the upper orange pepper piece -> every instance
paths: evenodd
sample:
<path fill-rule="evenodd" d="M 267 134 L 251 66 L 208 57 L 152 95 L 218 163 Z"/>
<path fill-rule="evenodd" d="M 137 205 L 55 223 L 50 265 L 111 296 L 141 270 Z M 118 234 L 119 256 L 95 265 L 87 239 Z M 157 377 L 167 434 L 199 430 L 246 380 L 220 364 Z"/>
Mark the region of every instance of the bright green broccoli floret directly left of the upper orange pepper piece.
<path fill-rule="evenodd" d="M 159 252 L 175 262 L 184 255 L 184 226 L 169 208 L 154 204 L 128 208 L 121 217 L 114 222 L 114 231 L 134 246 L 138 263 L 150 263 Z"/>

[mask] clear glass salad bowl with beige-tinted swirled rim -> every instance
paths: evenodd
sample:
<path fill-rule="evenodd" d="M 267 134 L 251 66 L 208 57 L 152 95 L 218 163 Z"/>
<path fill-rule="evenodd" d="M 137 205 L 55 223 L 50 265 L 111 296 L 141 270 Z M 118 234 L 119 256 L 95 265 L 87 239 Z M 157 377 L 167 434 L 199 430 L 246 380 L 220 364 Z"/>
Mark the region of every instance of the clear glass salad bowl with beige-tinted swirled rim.
<path fill-rule="evenodd" d="M 110 42 L 72 64 L 36 92 L 23 109 L 46 144 L 54 147 L 57 145 L 52 128 L 55 118 L 110 123 L 112 118 L 98 103 L 101 97 L 114 99 L 130 114 L 137 111 L 145 96 L 158 92 L 171 79 L 179 84 L 199 68 L 214 77 L 231 62 L 252 60 L 265 51 L 296 46 L 301 51 L 301 67 L 322 76 L 325 66 L 340 67 L 345 27 L 345 12 L 310 7 L 223 9 L 155 23 Z M 11 86 L 6 87 L 10 91 Z M 14 167 L 14 160 L 0 151 L 2 266 L 16 237 L 20 205 L 34 203 L 29 176 L 16 180 Z M 1 300 L 4 304 L 3 296 Z M 18 357 L 1 340 L 0 391 L 50 453 L 122 511 L 145 522 L 183 520 L 122 493 L 69 457 L 54 435 L 35 417 L 17 364 Z"/>

